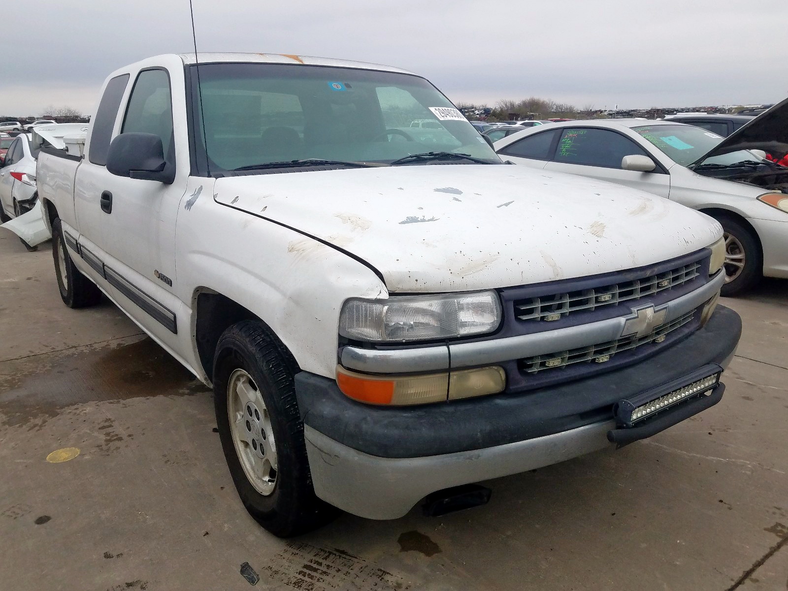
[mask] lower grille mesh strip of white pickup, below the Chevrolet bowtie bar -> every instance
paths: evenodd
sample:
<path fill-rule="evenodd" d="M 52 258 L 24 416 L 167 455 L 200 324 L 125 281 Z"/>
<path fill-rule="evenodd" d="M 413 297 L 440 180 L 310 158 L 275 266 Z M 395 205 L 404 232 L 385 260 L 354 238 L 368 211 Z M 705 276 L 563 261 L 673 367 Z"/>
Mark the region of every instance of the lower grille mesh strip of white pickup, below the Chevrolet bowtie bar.
<path fill-rule="evenodd" d="M 623 336 L 618 340 L 610 340 L 607 343 L 593 344 L 569 351 L 557 351 L 547 355 L 534 355 L 533 357 L 520 359 L 518 363 L 519 369 L 528 374 L 537 374 L 540 371 L 556 370 L 571 366 L 574 363 L 604 363 L 617 353 L 630 351 L 646 344 L 661 343 L 665 340 L 668 333 L 692 321 L 694 314 L 695 310 L 692 310 L 683 316 L 671 320 L 671 322 L 666 322 L 645 336 Z"/>

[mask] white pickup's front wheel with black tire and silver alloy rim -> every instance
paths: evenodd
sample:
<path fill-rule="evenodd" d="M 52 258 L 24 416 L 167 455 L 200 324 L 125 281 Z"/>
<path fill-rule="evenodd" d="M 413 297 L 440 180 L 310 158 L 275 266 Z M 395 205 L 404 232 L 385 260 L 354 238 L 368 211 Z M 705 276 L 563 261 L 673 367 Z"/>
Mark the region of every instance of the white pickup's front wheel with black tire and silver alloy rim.
<path fill-rule="evenodd" d="M 214 406 L 230 475 L 243 506 L 278 537 L 314 530 L 336 515 L 314 494 L 296 371 L 259 322 L 232 325 L 216 347 Z"/>

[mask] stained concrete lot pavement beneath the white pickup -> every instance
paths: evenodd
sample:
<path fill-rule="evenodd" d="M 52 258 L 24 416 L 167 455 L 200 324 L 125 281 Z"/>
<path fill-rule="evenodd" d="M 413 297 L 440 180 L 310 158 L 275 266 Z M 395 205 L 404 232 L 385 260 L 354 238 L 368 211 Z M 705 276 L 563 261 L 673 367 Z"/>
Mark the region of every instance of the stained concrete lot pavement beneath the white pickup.
<path fill-rule="evenodd" d="M 711 410 L 485 507 L 284 541 L 233 489 L 211 392 L 112 303 L 64 307 L 52 267 L 0 230 L 4 589 L 247 589 L 242 563 L 262 589 L 788 588 L 788 281 L 723 300 L 744 334 Z"/>

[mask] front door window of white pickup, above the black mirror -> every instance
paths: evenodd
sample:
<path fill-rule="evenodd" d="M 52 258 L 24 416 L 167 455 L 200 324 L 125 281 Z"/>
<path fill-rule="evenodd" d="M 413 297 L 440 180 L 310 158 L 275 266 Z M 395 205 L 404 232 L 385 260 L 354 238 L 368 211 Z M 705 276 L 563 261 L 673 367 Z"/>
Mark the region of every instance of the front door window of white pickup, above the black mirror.
<path fill-rule="evenodd" d="M 139 72 L 128 99 L 121 133 L 151 133 L 162 138 L 167 162 L 173 162 L 173 101 L 169 76 L 161 69 Z"/>

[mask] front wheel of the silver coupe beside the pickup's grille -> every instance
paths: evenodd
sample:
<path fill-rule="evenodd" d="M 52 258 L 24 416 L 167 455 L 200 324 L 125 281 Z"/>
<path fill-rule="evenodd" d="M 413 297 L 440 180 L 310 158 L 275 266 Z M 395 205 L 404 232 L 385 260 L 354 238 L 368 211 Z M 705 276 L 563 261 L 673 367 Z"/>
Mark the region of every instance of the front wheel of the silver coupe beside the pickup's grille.
<path fill-rule="evenodd" d="M 763 277 L 764 257 L 752 229 L 734 217 L 719 216 L 725 239 L 725 284 L 723 296 L 738 296 L 753 288 Z"/>

